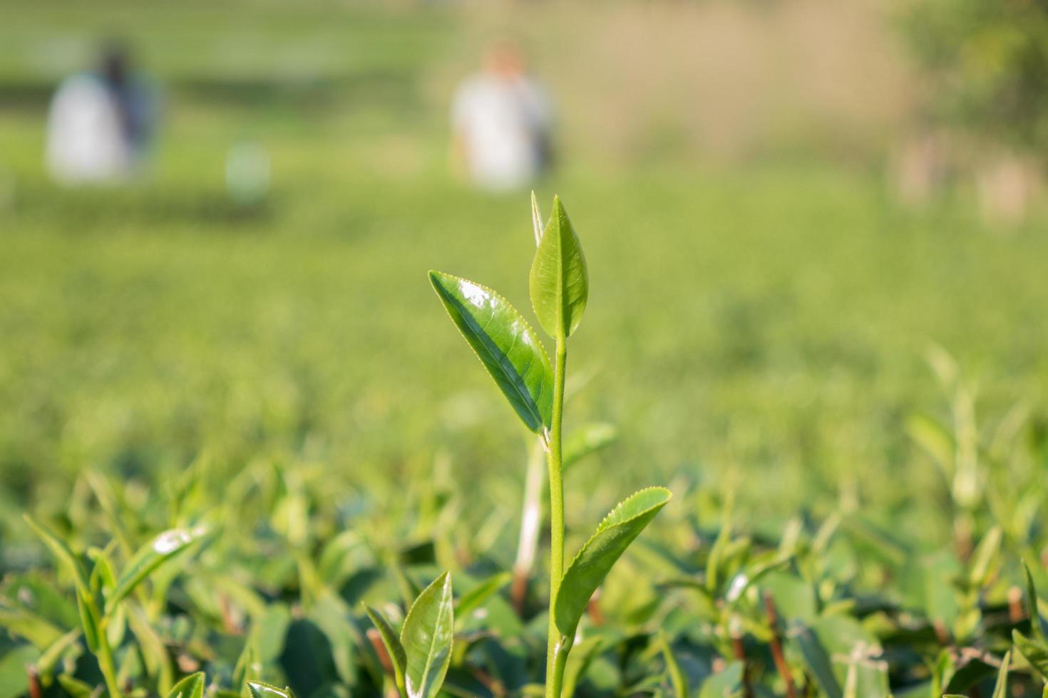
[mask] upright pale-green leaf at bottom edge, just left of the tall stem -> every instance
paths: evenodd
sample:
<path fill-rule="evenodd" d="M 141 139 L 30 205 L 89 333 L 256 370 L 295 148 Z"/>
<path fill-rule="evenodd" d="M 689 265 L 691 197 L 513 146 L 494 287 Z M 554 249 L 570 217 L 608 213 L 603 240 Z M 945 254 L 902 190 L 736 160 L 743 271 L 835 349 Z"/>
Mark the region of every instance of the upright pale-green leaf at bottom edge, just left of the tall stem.
<path fill-rule="evenodd" d="M 400 644 L 408 655 L 408 698 L 432 698 L 440 691 L 452 660 L 454 629 L 452 578 L 444 572 L 418 594 L 400 630 Z"/>

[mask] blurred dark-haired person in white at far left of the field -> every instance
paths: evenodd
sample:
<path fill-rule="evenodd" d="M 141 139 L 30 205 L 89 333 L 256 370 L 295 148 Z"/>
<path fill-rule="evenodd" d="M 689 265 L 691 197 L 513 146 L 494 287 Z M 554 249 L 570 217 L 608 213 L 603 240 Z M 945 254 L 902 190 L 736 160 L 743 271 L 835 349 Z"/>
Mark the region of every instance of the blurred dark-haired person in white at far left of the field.
<path fill-rule="evenodd" d="M 152 89 L 127 48 L 108 41 L 97 68 L 65 78 L 47 118 L 47 166 L 63 184 L 117 182 L 138 174 L 154 131 Z"/>

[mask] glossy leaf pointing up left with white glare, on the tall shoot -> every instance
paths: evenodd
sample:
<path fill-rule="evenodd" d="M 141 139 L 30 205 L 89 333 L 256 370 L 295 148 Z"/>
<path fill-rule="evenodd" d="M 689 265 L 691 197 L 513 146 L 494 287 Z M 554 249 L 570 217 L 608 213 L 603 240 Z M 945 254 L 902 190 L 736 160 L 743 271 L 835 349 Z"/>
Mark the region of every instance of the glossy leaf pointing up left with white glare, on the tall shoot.
<path fill-rule="evenodd" d="M 492 289 L 440 271 L 430 283 L 452 322 L 473 347 L 527 428 L 536 433 L 553 419 L 553 367 L 534 331 Z"/>

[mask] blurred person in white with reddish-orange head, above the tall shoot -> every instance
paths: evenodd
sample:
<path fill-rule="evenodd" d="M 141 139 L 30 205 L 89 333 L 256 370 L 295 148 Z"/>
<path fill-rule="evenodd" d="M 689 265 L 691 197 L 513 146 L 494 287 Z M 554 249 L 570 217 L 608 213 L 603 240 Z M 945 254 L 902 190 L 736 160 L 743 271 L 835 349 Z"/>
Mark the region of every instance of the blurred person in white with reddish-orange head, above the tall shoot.
<path fill-rule="evenodd" d="M 486 189 L 527 186 L 550 165 L 552 116 L 520 47 L 496 41 L 484 53 L 483 70 L 462 82 L 452 103 L 456 164 Z"/>

